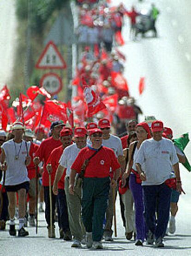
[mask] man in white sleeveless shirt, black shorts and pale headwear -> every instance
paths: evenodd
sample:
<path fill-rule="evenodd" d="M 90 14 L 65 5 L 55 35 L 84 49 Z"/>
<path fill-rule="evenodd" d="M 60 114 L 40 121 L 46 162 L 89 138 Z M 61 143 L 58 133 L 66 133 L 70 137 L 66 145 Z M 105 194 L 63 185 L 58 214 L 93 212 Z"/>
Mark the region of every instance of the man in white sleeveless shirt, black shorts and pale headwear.
<path fill-rule="evenodd" d="M 24 229 L 24 216 L 26 211 L 26 194 L 29 189 L 29 178 L 26 166 L 30 164 L 31 158 L 29 156 L 30 143 L 22 140 L 23 133 L 24 125 L 20 122 L 15 122 L 12 126 L 14 138 L 2 145 L 2 153 L 0 156 L 2 168 L 6 171 L 5 188 L 9 200 L 9 234 L 11 236 L 16 236 L 14 222 L 15 192 L 18 192 L 19 237 L 29 235 L 29 232 Z"/>

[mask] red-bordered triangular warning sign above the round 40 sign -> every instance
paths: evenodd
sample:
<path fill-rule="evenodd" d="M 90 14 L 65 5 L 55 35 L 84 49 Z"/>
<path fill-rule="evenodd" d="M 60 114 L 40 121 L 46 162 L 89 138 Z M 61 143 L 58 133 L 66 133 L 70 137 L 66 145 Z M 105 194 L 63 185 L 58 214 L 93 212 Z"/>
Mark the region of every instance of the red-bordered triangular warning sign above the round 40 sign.
<path fill-rule="evenodd" d="M 35 67 L 36 69 L 66 69 L 66 62 L 53 41 L 46 45 Z"/>

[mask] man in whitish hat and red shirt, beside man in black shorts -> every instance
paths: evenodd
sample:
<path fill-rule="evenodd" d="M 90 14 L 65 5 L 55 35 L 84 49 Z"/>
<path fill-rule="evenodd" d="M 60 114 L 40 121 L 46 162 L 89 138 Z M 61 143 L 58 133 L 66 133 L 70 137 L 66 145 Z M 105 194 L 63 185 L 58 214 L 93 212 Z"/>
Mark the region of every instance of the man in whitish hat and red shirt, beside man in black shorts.
<path fill-rule="evenodd" d="M 30 164 L 27 166 L 29 181 L 29 225 L 35 226 L 35 206 L 36 206 L 36 168 L 33 162 L 36 151 L 39 146 L 33 143 L 34 134 L 30 129 L 26 129 L 24 133 L 24 140 L 30 141 L 29 156 L 31 157 Z"/>

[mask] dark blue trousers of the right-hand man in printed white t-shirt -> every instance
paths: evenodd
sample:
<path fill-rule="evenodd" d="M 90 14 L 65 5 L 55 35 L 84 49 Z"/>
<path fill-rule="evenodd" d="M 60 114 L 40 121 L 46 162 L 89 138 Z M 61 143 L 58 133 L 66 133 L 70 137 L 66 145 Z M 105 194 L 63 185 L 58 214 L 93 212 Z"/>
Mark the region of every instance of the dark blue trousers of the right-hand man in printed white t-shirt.
<path fill-rule="evenodd" d="M 169 219 L 171 188 L 164 183 L 143 186 L 143 195 L 146 225 L 156 239 L 164 237 Z"/>

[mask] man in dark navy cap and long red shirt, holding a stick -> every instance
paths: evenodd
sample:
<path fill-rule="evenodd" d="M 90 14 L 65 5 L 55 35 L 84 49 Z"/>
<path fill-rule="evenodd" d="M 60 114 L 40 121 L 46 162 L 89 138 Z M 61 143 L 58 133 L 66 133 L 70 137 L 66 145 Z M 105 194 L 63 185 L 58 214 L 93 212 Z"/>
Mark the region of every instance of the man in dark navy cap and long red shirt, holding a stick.
<path fill-rule="evenodd" d="M 44 201 L 45 201 L 45 219 L 48 224 L 48 237 L 55 237 L 54 230 L 54 211 L 56 204 L 56 196 L 52 193 L 52 206 L 53 206 L 53 231 L 50 229 L 50 198 L 49 198 L 49 175 L 46 168 L 48 157 L 51 152 L 62 145 L 60 141 L 60 131 L 64 127 L 64 123 L 62 121 L 55 121 L 51 124 L 50 130 L 52 136 L 43 140 L 39 149 L 36 151 L 34 163 L 39 164 L 41 161 L 44 162 L 43 165 L 43 173 L 42 173 L 42 185 L 44 186 Z M 54 182 L 54 176 L 51 175 L 51 186 Z"/>

